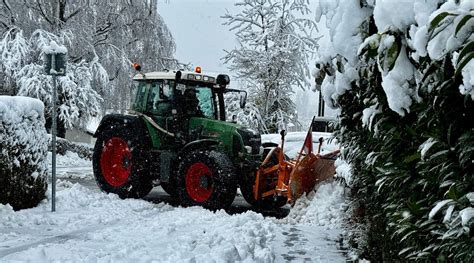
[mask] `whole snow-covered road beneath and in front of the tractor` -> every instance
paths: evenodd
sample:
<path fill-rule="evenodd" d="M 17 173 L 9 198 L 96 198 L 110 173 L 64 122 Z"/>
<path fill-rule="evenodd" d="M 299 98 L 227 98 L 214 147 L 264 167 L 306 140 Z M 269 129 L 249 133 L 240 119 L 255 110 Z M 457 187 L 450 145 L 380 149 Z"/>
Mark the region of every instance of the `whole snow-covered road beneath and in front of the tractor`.
<path fill-rule="evenodd" d="M 33 209 L 0 205 L 0 262 L 346 261 L 336 182 L 277 218 L 251 211 L 241 197 L 229 213 L 182 208 L 159 187 L 145 200 L 121 200 L 100 192 L 90 164 L 70 163 L 58 169 L 57 212 L 49 191 Z"/>

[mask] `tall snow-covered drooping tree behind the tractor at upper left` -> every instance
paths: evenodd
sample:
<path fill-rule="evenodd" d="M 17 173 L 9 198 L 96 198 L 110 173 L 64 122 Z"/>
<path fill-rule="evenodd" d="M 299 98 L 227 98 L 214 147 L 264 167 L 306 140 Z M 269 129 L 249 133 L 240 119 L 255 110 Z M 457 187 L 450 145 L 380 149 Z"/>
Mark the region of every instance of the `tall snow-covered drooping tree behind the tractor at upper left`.
<path fill-rule="evenodd" d="M 47 109 L 51 77 L 42 73 L 42 50 L 50 41 L 67 47 L 68 73 L 59 81 L 64 127 L 81 126 L 101 110 L 127 109 L 132 62 L 146 70 L 177 64 L 156 0 L 5 0 L 0 32 L 0 85 L 42 99 Z"/>

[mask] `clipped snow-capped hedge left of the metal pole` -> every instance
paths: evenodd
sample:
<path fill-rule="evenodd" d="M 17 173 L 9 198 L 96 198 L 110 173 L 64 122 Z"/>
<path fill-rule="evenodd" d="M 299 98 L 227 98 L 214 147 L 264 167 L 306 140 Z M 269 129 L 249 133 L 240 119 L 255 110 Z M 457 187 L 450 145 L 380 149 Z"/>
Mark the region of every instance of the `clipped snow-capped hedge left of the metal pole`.
<path fill-rule="evenodd" d="M 43 112 L 37 99 L 0 96 L 0 203 L 15 210 L 36 206 L 45 196 Z"/>

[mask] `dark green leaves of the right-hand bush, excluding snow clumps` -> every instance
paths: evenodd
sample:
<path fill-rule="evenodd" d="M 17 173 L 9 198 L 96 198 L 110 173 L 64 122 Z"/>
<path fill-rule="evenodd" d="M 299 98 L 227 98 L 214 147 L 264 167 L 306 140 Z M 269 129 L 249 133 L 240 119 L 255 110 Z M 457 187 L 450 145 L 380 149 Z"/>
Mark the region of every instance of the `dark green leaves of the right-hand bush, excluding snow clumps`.
<path fill-rule="evenodd" d="M 456 35 L 464 30 L 472 15 L 458 16 L 442 12 L 434 17 L 431 39 L 452 21 L 458 21 Z M 359 49 L 359 80 L 335 101 L 340 108 L 335 135 L 356 177 L 351 194 L 359 214 L 354 216 L 368 229 L 366 244 L 356 244 L 361 257 L 472 262 L 474 219 L 466 222 L 462 214 L 474 205 L 474 102 L 459 86 L 461 70 L 474 57 L 474 42 L 462 40 L 440 61 L 429 56 L 412 61 L 422 74 L 411 83 L 420 99 L 400 116 L 389 108 L 381 71 L 393 69 L 401 49 L 413 52 L 406 44 L 408 33 L 370 34 Z M 394 41 L 381 47 L 386 37 Z M 455 65 L 453 54 L 459 54 Z M 338 70 L 324 67 L 321 72 Z M 372 105 L 381 113 L 364 127 L 363 111 Z"/>

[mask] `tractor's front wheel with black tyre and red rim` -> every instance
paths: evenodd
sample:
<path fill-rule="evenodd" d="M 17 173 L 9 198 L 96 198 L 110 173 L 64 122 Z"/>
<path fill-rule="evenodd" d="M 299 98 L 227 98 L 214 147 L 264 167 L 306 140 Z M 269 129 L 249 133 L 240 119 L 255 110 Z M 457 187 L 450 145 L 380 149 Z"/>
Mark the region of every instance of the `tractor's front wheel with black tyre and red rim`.
<path fill-rule="evenodd" d="M 218 151 L 193 151 L 182 157 L 177 177 L 181 203 L 209 209 L 229 207 L 237 191 L 234 167 Z"/>

